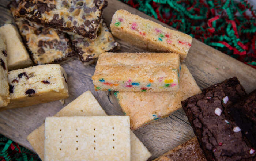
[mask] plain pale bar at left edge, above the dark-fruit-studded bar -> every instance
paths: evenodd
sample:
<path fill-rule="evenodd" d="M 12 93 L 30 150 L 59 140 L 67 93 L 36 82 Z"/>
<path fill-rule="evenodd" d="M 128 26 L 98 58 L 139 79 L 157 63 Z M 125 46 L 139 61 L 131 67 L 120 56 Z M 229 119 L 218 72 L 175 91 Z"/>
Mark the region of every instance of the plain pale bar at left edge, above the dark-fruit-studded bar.
<path fill-rule="evenodd" d="M 0 34 L 5 38 L 8 70 L 29 67 L 33 64 L 27 53 L 18 30 L 11 24 L 0 27 Z"/>

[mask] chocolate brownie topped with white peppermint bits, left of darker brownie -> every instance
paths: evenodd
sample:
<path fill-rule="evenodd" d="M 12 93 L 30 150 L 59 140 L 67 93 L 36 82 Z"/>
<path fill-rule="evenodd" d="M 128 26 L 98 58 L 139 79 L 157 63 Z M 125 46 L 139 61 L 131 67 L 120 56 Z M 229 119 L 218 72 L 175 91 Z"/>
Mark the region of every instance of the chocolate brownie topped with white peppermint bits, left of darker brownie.
<path fill-rule="evenodd" d="M 244 88 L 233 77 L 181 102 L 207 160 L 253 161 L 255 158 L 228 112 L 245 95 Z"/>

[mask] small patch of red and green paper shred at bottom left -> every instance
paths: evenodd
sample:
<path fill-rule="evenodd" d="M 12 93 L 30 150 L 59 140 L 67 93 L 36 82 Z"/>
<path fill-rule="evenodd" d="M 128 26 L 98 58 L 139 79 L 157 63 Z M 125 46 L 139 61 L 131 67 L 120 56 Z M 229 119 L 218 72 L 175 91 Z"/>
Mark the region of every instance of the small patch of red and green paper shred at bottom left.
<path fill-rule="evenodd" d="M 37 154 L 0 134 L 0 161 L 41 161 Z"/>

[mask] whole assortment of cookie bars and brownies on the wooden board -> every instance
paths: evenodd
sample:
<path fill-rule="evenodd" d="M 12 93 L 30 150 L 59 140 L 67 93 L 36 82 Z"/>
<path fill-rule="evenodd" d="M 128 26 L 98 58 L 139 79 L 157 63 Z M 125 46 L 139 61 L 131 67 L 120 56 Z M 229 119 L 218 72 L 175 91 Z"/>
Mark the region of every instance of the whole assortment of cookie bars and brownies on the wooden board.
<path fill-rule="evenodd" d="M 112 53 L 119 45 L 102 18 L 106 5 L 9 4 L 21 37 L 11 24 L 0 27 L 0 110 L 67 98 L 67 74 L 54 63 L 77 55 L 84 65 L 97 61 L 95 90 L 116 91 L 126 115 L 107 116 L 84 92 L 28 135 L 41 160 L 146 161 L 151 153 L 130 129 L 183 107 L 196 137 L 154 161 L 255 161 L 256 90 L 246 95 L 234 77 L 201 91 L 183 63 L 192 37 L 125 10 L 113 15 L 112 34 L 151 52 Z"/>

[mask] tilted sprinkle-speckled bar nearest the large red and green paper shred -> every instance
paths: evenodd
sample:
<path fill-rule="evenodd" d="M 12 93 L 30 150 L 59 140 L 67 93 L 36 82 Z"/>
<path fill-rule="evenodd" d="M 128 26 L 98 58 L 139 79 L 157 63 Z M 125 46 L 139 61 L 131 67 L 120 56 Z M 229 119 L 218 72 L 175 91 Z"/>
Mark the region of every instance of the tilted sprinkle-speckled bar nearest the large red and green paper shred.
<path fill-rule="evenodd" d="M 187 57 L 192 43 L 192 37 L 187 34 L 170 30 L 123 9 L 115 12 L 110 28 L 114 37 L 146 50 L 178 53 L 181 60 Z"/>

